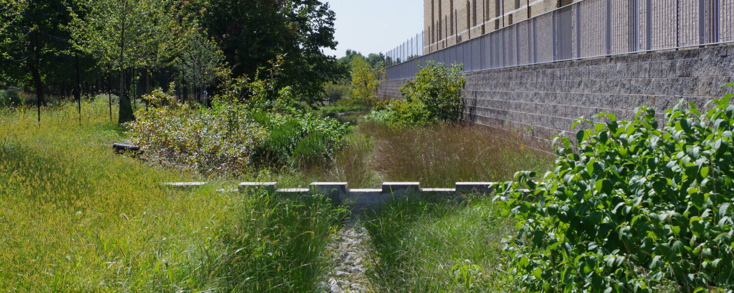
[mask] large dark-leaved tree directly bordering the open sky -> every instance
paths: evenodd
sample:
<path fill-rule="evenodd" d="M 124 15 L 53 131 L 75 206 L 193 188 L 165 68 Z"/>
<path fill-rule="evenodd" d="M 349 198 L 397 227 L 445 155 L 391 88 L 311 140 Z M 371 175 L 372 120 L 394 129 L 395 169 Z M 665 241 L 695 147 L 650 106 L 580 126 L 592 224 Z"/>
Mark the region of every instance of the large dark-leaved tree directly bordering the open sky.
<path fill-rule="evenodd" d="M 335 13 L 319 0 L 210 0 L 203 26 L 224 52 L 235 77 L 254 76 L 284 55 L 280 87 L 302 100 L 323 97 L 323 84 L 346 73 L 322 48 L 335 48 Z"/>

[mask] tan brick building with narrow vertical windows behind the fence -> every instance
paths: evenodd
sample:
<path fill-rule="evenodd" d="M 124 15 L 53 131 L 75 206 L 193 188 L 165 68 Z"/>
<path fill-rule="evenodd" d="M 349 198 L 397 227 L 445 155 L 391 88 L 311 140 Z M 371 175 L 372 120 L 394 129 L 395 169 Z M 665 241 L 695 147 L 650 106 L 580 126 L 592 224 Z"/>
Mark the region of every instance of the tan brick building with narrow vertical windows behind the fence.
<path fill-rule="evenodd" d="M 581 0 L 424 0 L 424 52 L 431 53 Z"/>

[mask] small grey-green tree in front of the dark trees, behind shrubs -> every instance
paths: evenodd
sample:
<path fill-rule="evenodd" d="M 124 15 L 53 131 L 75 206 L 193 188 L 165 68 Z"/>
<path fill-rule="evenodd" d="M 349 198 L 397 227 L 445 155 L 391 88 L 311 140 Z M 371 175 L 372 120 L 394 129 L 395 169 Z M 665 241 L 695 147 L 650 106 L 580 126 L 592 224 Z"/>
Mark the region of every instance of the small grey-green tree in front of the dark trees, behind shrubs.
<path fill-rule="evenodd" d="M 197 88 L 197 94 L 202 102 L 206 97 L 203 91 L 206 86 L 214 84 L 217 79 L 217 67 L 224 61 L 222 51 L 217 44 L 208 40 L 203 34 L 192 34 L 188 38 L 186 50 L 176 58 L 176 68 L 183 75 L 183 79 Z"/>

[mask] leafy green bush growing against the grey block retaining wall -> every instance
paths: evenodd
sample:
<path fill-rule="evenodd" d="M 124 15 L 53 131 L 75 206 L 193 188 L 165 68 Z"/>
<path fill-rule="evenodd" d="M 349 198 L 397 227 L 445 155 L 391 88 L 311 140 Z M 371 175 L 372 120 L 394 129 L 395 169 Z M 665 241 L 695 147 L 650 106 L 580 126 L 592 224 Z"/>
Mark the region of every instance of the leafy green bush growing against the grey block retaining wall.
<path fill-rule="evenodd" d="M 457 122 L 461 118 L 461 89 L 465 84 L 459 64 L 446 67 L 429 61 L 401 87 L 405 100 L 396 100 L 366 116 L 368 120 L 395 127 L 435 125 Z"/>

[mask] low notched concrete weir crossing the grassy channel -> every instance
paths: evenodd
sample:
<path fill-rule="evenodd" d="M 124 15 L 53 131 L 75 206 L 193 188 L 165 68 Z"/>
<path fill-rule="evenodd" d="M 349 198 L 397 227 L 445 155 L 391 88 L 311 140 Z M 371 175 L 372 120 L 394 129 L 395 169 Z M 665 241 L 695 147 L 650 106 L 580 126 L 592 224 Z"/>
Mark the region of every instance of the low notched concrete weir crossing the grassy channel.
<path fill-rule="evenodd" d="M 190 189 L 208 182 L 166 182 L 171 188 Z M 277 182 L 241 182 L 236 190 L 222 192 L 266 190 L 286 196 L 308 196 L 322 194 L 337 204 L 346 204 L 355 210 L 381 207 L 399 196 L 462 196 L 469 193 L 490 193 L 493 182 L 457 182 L 454 188 L 421 188 L 420 182 L 384 182 L 381 188 L 350 189 L 347 182 L 313 182 L 309 188 L 277 188 Z"/>

